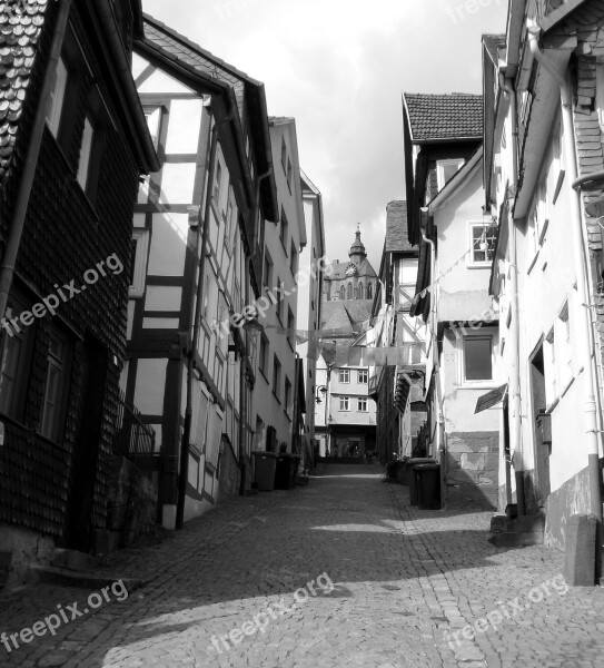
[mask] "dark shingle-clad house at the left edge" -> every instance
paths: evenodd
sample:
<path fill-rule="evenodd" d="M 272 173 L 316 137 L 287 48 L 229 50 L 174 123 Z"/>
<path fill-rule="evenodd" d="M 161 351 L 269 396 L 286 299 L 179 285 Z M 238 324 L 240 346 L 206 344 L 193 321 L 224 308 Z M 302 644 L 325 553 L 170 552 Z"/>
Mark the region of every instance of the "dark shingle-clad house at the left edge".
<path fill-rule="evenodd" d="M 140 3 L 111 7 L 1 8 L 0 543 L 18 574 L 55 546 L 109 548 L 132 208 L 157 166 L 128 73 Z"/>

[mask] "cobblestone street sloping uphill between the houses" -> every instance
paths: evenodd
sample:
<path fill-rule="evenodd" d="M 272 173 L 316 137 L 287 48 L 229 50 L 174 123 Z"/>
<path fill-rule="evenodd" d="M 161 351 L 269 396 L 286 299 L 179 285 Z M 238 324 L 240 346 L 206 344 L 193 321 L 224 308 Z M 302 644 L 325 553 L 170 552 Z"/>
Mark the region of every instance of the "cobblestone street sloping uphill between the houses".
<path fill-rule="evenodd" d="M 306 488 L 228 499 L 120 552 L 112 569 L 146 587 L 0 645 L 0 667 L 604 667 L 604 590 L 565 591 L 557 551 L 494 548 L 489 515 L 419 511 L 377 465 L 325 465 Z M 0 631 L 89 593 L 4 595 Z"/>

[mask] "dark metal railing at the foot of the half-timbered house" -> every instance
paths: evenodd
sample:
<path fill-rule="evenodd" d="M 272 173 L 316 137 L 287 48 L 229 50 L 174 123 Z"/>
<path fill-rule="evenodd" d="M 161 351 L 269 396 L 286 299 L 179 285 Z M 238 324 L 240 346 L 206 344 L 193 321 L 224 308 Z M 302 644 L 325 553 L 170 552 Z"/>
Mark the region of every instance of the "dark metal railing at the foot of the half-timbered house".
<path fill-rule="evenodd" d="M 140 412 L 128 404 L 122 392 L 119 394 L 118 431 L 113 438 L 113 454 L 125 456 L 136 464 L 148 478 L 157 470 L 155 431 L 142 422 Z"/>

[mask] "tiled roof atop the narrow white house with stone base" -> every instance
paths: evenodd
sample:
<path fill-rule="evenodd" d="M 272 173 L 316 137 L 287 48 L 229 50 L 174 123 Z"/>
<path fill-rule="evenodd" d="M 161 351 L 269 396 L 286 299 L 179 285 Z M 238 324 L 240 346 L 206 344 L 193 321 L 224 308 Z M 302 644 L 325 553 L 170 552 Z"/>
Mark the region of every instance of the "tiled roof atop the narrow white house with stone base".
<path fill-rule="evenodd" d="M 483 96 L 404 92 L 413 144 L 482 139 Z"/>

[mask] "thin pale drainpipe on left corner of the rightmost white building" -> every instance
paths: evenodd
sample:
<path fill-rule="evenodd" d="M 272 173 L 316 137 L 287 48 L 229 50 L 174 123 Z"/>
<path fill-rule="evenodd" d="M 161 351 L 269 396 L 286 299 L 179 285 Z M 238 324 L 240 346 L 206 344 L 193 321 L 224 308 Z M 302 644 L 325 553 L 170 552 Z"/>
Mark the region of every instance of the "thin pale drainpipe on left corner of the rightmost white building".
<path fill-rule="evenodd" d="M 506 79 L 504 75 L 499 75 L 499 85 L 502 89 L 509 96 L 509 114 L 512 116 L 512 174 L 516 179 L 518 174 L 518 124 L 516 116 L 516 94 L 514 91 L 513 79 Z M 514 183 L 514 186 L 516 184 Z M 519 322 L 519 302 L 518 302 L 518 265 L 517 265 L 517 239 L 516 225 L 508 216 L 509 229 L 509 292 L 511 311 L 512 311 L 512 336 L 509 341 L 509 358 L 512 360 L 512 369 L 509 374 L 509 399 L 512 409 L 512 429 L 511 450 L 518 453 L 518 461 L 514 460 L 514 473 L 516 477 L 516 503 L 518 507 L 518 515 L 526 514 L 526 497 L 524 489 L 524 452 L 522 443 L 522 420 L 521 420 L 521 367 L 519 367 L 519 341 L 521 341 L 521 322 Z M 506 462 L 506 466 L 509 464 Z M 509 491 L 508 491 L 509 492 Z"/>

